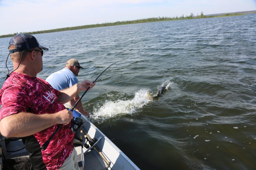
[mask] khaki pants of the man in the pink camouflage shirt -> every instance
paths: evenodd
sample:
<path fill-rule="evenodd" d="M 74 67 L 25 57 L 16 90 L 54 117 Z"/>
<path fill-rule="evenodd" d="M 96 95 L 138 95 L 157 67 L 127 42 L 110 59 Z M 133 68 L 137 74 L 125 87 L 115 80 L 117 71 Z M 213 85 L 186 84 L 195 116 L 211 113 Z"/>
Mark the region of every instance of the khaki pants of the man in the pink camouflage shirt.
<path fill-rule="evenodd" d="M 76 149 L 73 149 L 71 155 L 65 160 L 59 170 L 80 170 L 77 164 L 77 153 Z"/>

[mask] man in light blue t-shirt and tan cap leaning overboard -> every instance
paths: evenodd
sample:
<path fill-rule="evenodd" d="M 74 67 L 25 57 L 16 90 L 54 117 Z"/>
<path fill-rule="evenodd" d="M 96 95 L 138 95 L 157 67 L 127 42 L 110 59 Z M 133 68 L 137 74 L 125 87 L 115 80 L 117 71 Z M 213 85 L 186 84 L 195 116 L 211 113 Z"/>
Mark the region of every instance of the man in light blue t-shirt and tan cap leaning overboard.
<path fill-rule="evenodd" d="M 83 69 L 83 67 L 80 66 L 76 59 L 72 58 L 68 60 L 66 66 L 62 70 L 52 73 L 45 81 L 59 91 L 66 89 L 78 83 L 76 76 L 78 76 L 80 69 Z M 79 95 L 76 95 L 74 99 L 68 102 L 68 104 L 72 107 L 78 99 Z M 83 115 L 90 117 L 90 114 L 84 110 L 81 101 L 77 104 L 76 108 Z"/>

